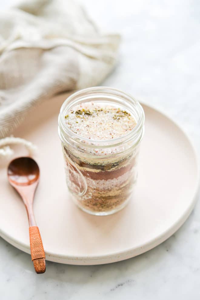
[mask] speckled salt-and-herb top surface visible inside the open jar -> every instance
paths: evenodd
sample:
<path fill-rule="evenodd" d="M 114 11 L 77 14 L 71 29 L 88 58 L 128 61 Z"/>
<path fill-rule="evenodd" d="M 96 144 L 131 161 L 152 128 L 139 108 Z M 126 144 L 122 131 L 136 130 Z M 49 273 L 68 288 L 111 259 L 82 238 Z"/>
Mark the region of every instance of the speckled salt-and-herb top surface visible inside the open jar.
<path fill-rule="evenodd" d="M 96 141 L 122 137 L 136 125 L 127 111 L 91 101 L 73 107 L 65 115 L 65 120 L 71 131 Z"/>

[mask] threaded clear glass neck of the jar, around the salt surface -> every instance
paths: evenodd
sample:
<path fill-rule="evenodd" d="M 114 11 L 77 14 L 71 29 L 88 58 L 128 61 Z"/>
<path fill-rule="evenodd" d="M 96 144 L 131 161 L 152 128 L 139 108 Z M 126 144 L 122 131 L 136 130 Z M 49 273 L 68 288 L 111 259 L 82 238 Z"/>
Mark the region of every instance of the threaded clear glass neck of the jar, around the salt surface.
<path fill-rule="evenodd" d="M 123 107 L 135 118 L 136 126 L 128 134 L 110 140 L 91 140 L 78 135 L 66 126 L 65 115 L 67 111 L 76 105 L 89 101 L 101 101 L 101 103 Z M 58 117 L 58 133 L 63 144 L 84 145 L 87 148 L 97 149 L 118 147 L 123 143 L 136 146 L 141 141 L 144 133 L 144 121 L 143 108 L 131 95 L 110 87 L 91 87 L 75 92 L 62 104 Z"/>

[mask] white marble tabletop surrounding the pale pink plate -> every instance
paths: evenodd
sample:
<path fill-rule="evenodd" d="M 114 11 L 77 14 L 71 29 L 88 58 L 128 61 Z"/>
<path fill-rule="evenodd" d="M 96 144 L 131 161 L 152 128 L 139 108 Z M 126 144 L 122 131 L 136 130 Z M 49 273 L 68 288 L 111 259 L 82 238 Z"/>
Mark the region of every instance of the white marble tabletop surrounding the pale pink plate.
<path fill-rule="evenodd" d="M 1 7 L 14 2 L 2 0 Z M 199 1 L 83 2 L 105 30 L 123 36 L 118 66 L 104 85 L 130 92 L 177 120 L 200 154 Z M 178 232 L 138 257 L 98 266 L 47 261 L 43 275 L 35 274 L 28 254 L 0 239 L 1 299 L 198 300 L 199 216 L 197 202 Z"/>

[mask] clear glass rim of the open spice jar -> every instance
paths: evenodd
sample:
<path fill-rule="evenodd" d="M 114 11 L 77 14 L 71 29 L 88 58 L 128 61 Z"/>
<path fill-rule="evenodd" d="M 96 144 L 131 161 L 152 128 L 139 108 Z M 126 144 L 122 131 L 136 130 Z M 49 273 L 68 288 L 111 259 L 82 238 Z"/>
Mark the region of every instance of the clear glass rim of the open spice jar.
<path fill-rule="evenodd" d="M 107 99 L 118 99 L 118 100 L 124 100 L 124 102 L 129 103 L 129 106 L 137 108 L 138 111 L 138 120 L 136 126 L 129 131 L 127 134 L 122 135 L 121 137 L 112 138 L 108 140 L 92 140 L 89 138 L 85 138 L 81 135 L 78 135 L 77 133 L 70 130 L 67 126 L 65 126 L 65 112 L 69 110 L 70 106 L 68 104 L 70 101 L 72 102 L 72 105 L 75 105 L 74 102 L 78 102 L 80 100 L 88 99 L 88 101 L 91 101 L 93 98 L 97 97 L 106 97 Z M 85 98 L 84 98 L 85 97 Z M 71 105 L 71 106 L 72 106 Z M 62 104 L 60 113 L 58 116 L 58 133 L 61 140 L 65 140 L 68 142 L 68 139 L 77 143 L 77 144 L 87 144 L 87 147 L 89 148 L 101 148 L 101 147 L 114 147 L 122 144 L 123 142 L 127 142 L 130 140 L 135 140 L 138 135 L 141 135 L 139 138 L 139 141 L 142 139 L 143 136 L 143 126 L 145 121 L 145 114 L 143 111 L 143 108 L 141 104 L 136 100 L 132 95 L 125 93 L 121 90 L 111 88 L 111 87 L 89 87 L 82 90 L 78 90 L 77 92 L 71 94 Z M 67 137 L 67 138 L 66 138 Z M 138 142 L 139 142 L 138 141 Z"/>

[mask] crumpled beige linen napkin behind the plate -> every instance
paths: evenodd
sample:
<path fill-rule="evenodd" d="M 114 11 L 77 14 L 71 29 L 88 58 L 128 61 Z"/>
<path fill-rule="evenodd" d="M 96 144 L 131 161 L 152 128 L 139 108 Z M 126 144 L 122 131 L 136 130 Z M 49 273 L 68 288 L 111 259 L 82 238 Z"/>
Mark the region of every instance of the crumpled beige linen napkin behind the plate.
<path fill-rule="evenodd" d="M 30 0 L 0 12 L 0 138 L 36 102 L 102 82 L 119 40 L 101 34 L 72 0 Z"/>

